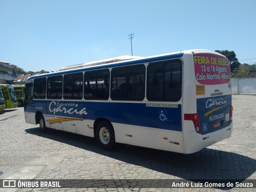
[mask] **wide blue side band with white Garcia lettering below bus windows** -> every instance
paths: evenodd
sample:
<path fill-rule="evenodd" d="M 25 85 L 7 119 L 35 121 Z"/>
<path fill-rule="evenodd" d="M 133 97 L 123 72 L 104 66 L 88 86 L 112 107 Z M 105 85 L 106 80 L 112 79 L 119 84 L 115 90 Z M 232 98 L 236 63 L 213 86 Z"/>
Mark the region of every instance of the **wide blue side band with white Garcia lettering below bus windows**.
<path fill-rule="evenodd" d="M 87 120 L 106 118 L 112 123 L 182 132 L 181 104 L 146 105 L 145 103 L 34 100 L 26 106 L 26 112 L 40 111 L 54 118 L 60 116 Z"/>

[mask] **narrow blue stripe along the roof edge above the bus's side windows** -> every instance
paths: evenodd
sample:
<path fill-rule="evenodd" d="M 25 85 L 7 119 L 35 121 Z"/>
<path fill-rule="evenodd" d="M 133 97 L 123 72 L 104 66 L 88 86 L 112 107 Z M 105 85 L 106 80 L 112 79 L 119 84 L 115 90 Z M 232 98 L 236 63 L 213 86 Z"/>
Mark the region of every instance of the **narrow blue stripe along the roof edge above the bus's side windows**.
<path fill-rule="evenodd" d="M 60 72 L 54 72 L 54 73 L 50 73 L 50 74 L 49 73 L 41 74 L 39 76 L 32 76 L 32 77 L 28 78 L 28 80 L 30 80 L 32 78 L 62 75 L 62 74 L 82 72 L 82 71 L 87 71 L 87 70 L 105 69 L 105 68 L 112 68 L 112 67 L 119 67 L 119 66 L 134 65 L 134 64 L 149 63 L 149 62 L 156 62 L 156 61 L 161 61 L 161 60 L 180 58 L 183 56 L 183 54 L 184 53 L 176 53 L 176 54 L 170 54 L 170 55 L 165 55 L 165 56 L 156 56 L 156 57 L 152 57 L 152 58 L 145 58 L 145 59 L 140 59 L 140 60 L 132 60 L 132 61 L 127 60 L 125 62 L 112 63 L 112 64 L 108 64 L 108 65 L 104 65 L 104 66 L 92 66 L 89 68 L 77 68 L 77 69 L 68 70 L 68 71 L 60 71 Z"/>

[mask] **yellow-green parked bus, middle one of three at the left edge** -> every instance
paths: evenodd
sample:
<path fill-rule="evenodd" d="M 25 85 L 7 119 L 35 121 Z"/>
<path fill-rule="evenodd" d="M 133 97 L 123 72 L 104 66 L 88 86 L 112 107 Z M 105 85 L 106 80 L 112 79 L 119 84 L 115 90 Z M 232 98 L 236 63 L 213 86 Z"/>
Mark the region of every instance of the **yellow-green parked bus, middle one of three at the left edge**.
<path fill-rule="evenodd" d="M 4 93 L 6 108 L 8 109 L 18 107 L 18 100 L 16 99 L 13 86 L 9 84 L 0 84 L 0 87 Z"/>

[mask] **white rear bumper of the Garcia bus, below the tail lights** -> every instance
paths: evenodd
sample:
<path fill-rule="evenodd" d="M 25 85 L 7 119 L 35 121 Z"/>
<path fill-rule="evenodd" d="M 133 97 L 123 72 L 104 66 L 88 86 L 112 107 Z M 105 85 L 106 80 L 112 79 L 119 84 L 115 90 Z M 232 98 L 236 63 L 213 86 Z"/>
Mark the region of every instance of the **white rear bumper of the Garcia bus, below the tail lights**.
<path fill-rule="evenodd" d="M 232 134 L 233 126 L 232 123 L 215 132 L 210 134 L 198 134 L 196 131 L 186 134 L 186 150 L 185 154 L 191 154 L 202 150 L 212 144 L 215 144 L 221 140 L 230 138 Z"/>

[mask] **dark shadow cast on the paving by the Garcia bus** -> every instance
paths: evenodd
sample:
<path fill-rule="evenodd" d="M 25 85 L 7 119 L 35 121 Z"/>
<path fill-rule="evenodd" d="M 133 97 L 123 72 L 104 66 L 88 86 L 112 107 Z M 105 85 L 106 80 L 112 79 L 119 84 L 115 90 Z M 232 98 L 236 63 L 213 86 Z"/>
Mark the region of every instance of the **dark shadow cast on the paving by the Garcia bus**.
<path fill-rule="evenodd" d="M 115 150 L 105 151 L 98 147 L 94 138 L 49 130 L 47 134 L 39 128 L 25 130 L 28 134 L 66 143 L 116 160 L 142 166 L 175 178 L 194 180 L 240 180 L 249 178 L 256 171 L 256 160 L 236 154 L 204 148 L 194 154 L 179 154 L 137 146 L 119 144 Z"/>

